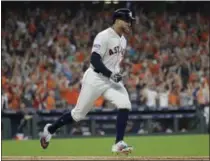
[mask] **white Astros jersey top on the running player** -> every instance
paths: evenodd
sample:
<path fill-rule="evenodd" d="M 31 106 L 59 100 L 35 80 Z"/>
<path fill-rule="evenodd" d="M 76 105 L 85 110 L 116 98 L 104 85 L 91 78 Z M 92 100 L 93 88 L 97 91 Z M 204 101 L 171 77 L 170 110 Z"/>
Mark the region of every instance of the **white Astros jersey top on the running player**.
<path fill-rule="evenodd" d="M 92 52 L 100 54 L 103 64 L 113 73 L 120 72 L 120 62 L 126 50 L 126 39 L 119 36 L 111 27 L 98 33 Z M 91 65 L 93 68 L 93 66 Z"/>

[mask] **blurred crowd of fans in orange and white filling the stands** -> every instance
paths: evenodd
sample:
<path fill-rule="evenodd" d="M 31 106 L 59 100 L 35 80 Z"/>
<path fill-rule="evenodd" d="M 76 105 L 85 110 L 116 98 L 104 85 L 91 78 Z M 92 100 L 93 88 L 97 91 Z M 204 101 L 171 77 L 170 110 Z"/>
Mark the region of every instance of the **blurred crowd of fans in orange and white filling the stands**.
<path fill-rule="evenodd" d="M 6 11 L 2 18 L 2 107 L 76 104 L 93 39 L 112 11 L 56 8 Z M 199 13 L 135 11 L 122 68 L 133 106 L 209 106 L 209 22 Z M 109 106 L 103 97 L 95 106 Z"/>

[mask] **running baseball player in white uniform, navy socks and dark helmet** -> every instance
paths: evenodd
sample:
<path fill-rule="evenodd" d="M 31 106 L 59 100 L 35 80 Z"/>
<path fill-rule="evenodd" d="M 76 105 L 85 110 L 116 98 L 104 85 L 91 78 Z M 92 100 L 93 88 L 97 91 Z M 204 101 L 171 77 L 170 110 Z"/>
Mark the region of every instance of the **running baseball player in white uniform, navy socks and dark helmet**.
<path fill-rule="evenodd" d="M 84 119 L 93 108 L 94 101 L 99 96 L 103 96 L 118 109 L 116 140 L 112 146 L 112 152 L 130 153 L 133 150 L 123 141 L 131 103 L 120 72 L 120 62 L 127 45 L 123 34 L 131 31 L 133 20 L 135 18 L 129 9 L 118 9 L 113 14 L 113 25 L 96 35 L 92 46 L 90 67 L 82 78 L 77 104 L 73 110 L 64 113 L 53 124 L 46 124 L 40 139 L 42 148 L 48 147 L 52 134 L 58 128 Z"/>

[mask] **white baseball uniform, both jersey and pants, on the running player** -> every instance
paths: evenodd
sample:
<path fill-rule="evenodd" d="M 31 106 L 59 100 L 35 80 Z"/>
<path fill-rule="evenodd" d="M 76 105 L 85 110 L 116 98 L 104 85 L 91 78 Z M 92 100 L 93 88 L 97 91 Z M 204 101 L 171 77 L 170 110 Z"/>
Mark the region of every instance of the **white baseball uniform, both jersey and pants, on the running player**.
<path fill-rule="evenodd" d="M 119 36 L 112 28 L 108 28 L 94 39 L 92 52 L 100 54 L 104 65 L 113 73 L 120 72 L 120 62 L 126 49 L 126 39 Z M 86 70 L 82 78 L 82 88 L 71 115 L 75 121 L 84 119 L 94 107 L 94 101 L 103 96 L 119 109 L 131 110 L 129 95 L 122 82 L 113 83 L 109 78 L 96 73 L 94 67 Z"/>

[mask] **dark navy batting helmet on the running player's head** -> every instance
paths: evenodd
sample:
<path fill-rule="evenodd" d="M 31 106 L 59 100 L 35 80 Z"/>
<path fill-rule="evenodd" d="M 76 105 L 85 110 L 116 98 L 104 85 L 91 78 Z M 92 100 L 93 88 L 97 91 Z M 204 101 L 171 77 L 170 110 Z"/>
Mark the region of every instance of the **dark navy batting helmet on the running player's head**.
<path fill-rule="evenodd" d="M 135 20 L 132 11 L 127 8 L 120 8 L 116 10 L 113 14 L 113 23 L 115 22 L 116 19 L 120 19 L 126 22 L 132 22 Z"/>

